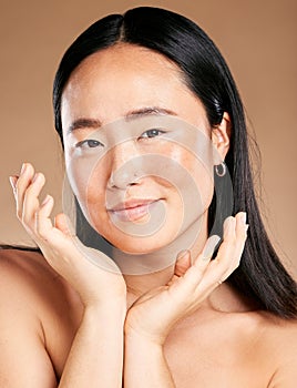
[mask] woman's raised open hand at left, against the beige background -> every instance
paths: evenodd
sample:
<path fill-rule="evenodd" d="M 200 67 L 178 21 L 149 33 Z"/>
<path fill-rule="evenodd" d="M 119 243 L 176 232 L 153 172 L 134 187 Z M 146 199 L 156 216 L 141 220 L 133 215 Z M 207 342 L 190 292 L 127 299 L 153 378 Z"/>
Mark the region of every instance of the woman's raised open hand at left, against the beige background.
<path fill-rule="evenodd" d="M 83 305 L 125 304 L 126 286 L 115 263 L 102 252 L 85 247 L 71 233 L 64 214 L 59 214 L 52 224 L 53 198 L 47 195 L 42 204 L 39 201 L 45 183 L 44 175 L 34 173 L 33 166 L 25 163 L 20 176 L 10 180 L 18 218 L 49 265 L 79 293 Z M 96 264 L 86 257 L 94 254 Z"/>

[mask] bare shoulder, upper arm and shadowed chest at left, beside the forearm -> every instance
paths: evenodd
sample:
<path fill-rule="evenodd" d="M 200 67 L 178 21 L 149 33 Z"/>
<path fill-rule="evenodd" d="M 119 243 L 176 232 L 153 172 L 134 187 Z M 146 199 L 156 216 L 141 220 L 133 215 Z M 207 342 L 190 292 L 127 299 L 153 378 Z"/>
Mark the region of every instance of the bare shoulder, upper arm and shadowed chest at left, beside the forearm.
<path fill-rule="evenodd" d="M 55 387 L 79 321 L 73 290 L 38 252 L 0 249 L 0 386 Z"/>

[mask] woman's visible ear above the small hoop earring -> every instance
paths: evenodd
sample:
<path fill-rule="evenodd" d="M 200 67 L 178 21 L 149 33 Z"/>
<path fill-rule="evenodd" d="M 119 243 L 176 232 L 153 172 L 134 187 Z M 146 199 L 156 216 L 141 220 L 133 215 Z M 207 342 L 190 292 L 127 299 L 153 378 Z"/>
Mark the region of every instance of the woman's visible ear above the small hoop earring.
<path fill-rule="evenodd" d="M 229 150 L 229 139 L 231 139 L 231 118 L 227 112 L 223 114 L 223 120 L 221 124 L 212 129 L 212 142 L 219 153 L 222 160 Z"/>

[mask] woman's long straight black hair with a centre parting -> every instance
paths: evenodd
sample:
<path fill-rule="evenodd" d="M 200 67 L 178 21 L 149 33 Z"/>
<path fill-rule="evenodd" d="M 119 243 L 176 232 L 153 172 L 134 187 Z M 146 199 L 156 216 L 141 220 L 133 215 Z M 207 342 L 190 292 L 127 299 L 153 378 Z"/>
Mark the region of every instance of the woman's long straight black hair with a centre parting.
<path fill-rule="evenodd" d="M 188 89 L 204 104 L 212 126 L 222 122 L 224 112 L 229 114 L 231 146 L 225 162 L 233 182 L 233 213 L 247 212 L 249 232 L 240 265 L 227 282 L 258 308 L 281 318 L 296 318 L 296 282 L 274 251 L 256 203 L 240 96 L 218 49 L 193 21 L 164 9 L 139 7 L 123 16 L 107 16 L 88 28 L 63 55 L 54 79 L 55 129 L 62 144 L 61 98 L 71 73 L 90 54 L 119 42 L 148 48 L 175 62 Z M 215 198 L 209 218 L 214 203 Z"/>

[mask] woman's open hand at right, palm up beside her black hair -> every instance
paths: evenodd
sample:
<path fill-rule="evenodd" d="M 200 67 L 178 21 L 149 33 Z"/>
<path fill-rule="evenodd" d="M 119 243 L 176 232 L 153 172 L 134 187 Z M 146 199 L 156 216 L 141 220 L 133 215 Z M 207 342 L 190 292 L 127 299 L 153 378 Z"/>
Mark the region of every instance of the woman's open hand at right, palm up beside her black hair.
<path fill-rule="evenodd" d="M 171 282 L 150 290 L 132 305 L 125 321 L 126 335 L 145 336 L 151 341 L 164 344 L 172 327 L 199 308 L 203 300 L 238 267 L 247 227 L 245 213 L 228 217 L 215 259 L 211 259 L 216 245 L 212 243 L 217 236 L 208 238 L 207 247 L 192 266 L 190 252 L 181 254 Z M 209 245 L 213 245 L 212 252 Z"/>

